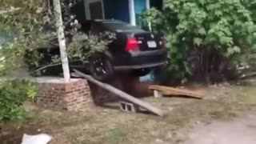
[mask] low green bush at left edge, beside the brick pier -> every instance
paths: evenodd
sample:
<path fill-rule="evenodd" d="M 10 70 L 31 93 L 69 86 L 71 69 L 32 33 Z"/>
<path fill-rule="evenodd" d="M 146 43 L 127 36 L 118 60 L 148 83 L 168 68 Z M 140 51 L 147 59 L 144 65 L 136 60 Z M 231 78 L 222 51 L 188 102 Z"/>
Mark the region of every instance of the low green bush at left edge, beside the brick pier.
<path fill-rule="evenodd" d="M 13 80 L 0 84 L 0 124 L 5 122 L 22 122 L 26 110 L 23 102 L 36 95 L 34 83 L 25 80 Z"/>

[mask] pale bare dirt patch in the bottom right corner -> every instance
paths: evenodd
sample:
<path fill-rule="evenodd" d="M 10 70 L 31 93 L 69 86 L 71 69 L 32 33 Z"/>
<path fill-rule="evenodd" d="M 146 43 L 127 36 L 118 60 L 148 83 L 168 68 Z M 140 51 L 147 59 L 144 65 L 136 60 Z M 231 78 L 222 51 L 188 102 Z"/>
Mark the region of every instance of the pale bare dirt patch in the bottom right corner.
<path fill-rule="evenodd" d="M 256 143 L 256 115 L 240 115 L 231 121 L 215 121 L 196 126 L 189 133 L 186 144 L 254 144 Z"/>

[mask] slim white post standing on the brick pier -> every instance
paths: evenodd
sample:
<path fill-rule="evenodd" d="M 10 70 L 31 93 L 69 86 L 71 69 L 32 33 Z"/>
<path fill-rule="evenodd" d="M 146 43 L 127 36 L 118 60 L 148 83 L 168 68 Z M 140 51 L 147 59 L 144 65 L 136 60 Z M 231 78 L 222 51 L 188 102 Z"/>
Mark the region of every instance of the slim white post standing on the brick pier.
<path fill-rule="evenodd" d="M 66 39 L 64 35 L 62 9 L 61 9 L 60 0 L 54 0 L 54 11 L 55 11 L 58 45 L 59 45 L 59 50 L 61 54 L 64 81 L 70 82 L 70 66 L 69 66 L 69 60 L 66 54 Z"/>

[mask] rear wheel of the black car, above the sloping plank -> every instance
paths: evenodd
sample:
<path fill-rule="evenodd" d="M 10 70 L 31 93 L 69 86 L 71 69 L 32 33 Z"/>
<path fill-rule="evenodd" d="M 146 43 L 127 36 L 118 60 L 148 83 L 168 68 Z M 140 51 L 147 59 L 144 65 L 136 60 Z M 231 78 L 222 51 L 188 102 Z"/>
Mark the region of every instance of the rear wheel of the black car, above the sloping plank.
<path fill-rule="evenodd" d="M 107 81 L 114 76 L 114 69 L 109 59 L 98 56 L 90 58 L 90 73 L 99 81 Z"/>

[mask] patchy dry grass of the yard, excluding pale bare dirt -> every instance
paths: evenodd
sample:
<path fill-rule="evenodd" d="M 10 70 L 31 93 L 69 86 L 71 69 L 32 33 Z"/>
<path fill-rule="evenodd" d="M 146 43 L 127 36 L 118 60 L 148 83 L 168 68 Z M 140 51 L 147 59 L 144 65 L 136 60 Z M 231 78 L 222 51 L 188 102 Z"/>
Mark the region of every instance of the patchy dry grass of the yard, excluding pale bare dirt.
<path fill-rule="evenodd" d="M 165 118 L 150 114 L 130 114 L 102 107 L 84 114 L 42 110 L 32 106 L 33 116 L 18 131 L 10 126 L 8 134 L 21 138 L 23 133 L 44 132 L 54 137 L 51 144 L 137 144 L 182 143 L 194 125 L 215 120 L 229 121 L 256 109 L 254 86 L 205 88 L 206 98 L 143 98 L 167 111 Z M 10 138 L 1 136 L 0 141 Z M 19 141 L 20 142 L 20 141 Z M 9 142 L 10 143 L 10 142 Z"/>

